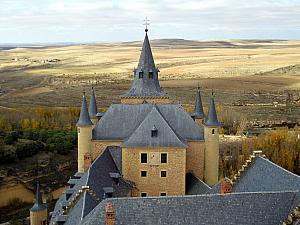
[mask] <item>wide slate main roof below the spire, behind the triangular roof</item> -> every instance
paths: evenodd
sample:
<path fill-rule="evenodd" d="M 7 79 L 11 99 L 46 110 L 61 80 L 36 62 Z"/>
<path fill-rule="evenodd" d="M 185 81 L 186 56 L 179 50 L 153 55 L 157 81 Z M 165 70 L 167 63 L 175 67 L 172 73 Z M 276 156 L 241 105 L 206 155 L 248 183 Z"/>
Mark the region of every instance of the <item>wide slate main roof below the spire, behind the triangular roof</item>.
<path fill-rule="evenodd" d="M 129 138 L 153 107 L 152 104 L 112 104 L 93 129 L 93 139 L 123 141 Z M 181 106 L 157 104 L 156 107 L 181 140 L 204 140 L 203 128 Z"/>

